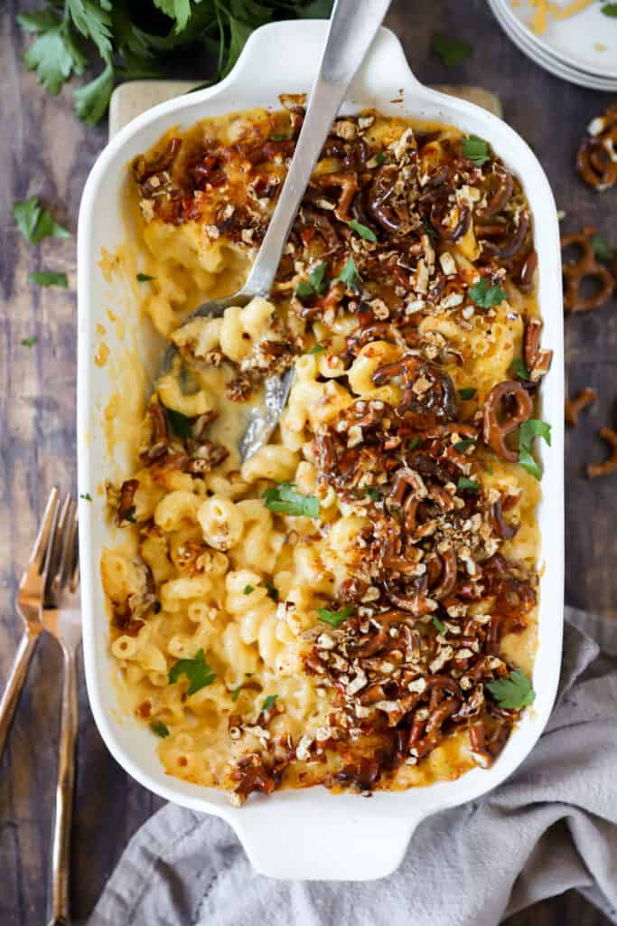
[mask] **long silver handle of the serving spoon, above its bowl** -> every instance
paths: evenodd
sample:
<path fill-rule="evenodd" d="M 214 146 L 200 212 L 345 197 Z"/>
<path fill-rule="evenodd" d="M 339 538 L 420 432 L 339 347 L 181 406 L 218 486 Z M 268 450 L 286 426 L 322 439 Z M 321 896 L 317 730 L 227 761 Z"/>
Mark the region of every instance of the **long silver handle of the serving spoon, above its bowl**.
<path fill-rule="evenodd" d="M 336 0 L 326 49 L 277 206 L 242 294 L 269 294 L 315 162 L 350 83 L 385 17 L 390 0 Z M 302 54 L 302 49 L 298 49 Z"/>

